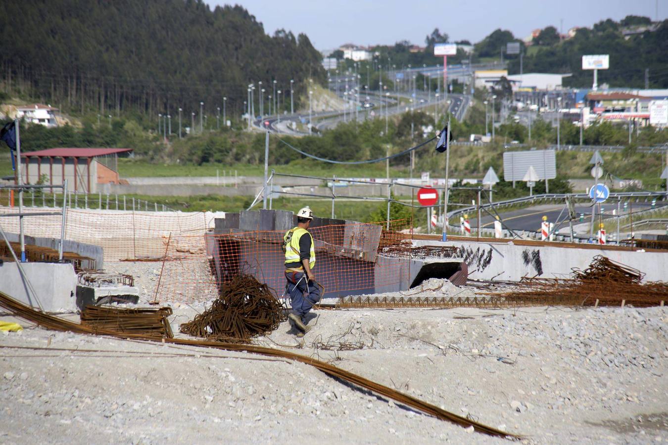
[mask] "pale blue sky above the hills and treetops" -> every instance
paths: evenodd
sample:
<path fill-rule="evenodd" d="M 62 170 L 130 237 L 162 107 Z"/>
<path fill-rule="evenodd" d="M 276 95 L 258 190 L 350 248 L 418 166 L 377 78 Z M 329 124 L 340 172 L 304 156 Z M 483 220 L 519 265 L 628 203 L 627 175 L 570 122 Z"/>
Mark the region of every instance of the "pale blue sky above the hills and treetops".
<path fill-rule="evenodd" d="M 208 5 L 230 4 L 204 0 Z M 604 19 L 619 21 L 629 14 L 668 18 L 668 0 L 236 0 L 273 34 L 284 28 L 305 33 L 319 50 L 343 43 L 393 45 L 399 40 L 424 45 L 434 28 L 451 41 L 482 40 L 494 29 L 518 38 L 552 25 L 591 27 Z M 563 25 L 561 24 L 563 20 Z"/>

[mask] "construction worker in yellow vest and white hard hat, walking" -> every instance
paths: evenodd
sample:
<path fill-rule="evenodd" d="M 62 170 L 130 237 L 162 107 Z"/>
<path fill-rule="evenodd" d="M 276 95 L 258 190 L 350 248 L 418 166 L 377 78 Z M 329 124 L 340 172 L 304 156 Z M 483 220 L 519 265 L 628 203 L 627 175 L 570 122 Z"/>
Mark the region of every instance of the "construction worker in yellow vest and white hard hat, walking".
<path fill-rule="evenodd" d="M 312 219 L 313 211 L 303 207 L 297 212 L 297 227 L 283 236 L 286 290 L 293 308 L 288 318 L 299 330 L 298 337 L 303 337 L 311 329 L 311 326 L 306 326 L 305 317 L 320 301 L 320 288 L 313 274 L 315 246 L 308 231 Z"/>

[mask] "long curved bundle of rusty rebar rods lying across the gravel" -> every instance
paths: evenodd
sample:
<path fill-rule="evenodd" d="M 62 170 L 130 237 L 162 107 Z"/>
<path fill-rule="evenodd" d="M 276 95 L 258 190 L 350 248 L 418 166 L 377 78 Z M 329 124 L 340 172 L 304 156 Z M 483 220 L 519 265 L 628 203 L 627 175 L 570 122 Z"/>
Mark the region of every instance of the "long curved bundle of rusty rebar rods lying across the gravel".
<path fill-rule="evenodd" d="M 28 320 L 29 322 L 33 322 L 35 324 L 38 324 L 39 326 L 43 326 L 44 328 L 51 330 L 69 331 L 69 332 L 74 332 L 76 334 L 106 335 L 106 336 L 112 336 L 114 338 L 119 338 L 121 340 L 125 338 L 132 338 L 134 340 L 144 340 L 148 342 L 157 341 L 155 337 L 146 336 L 143 334 L 124 334 L 121 332 L 105 331 L 105 330 L 94 332 L 94 330 L 92 330 L 90 326 L 83 326 L 78 323 L 63 320 L 62 318 L 57 318 L 55 316 L 44 314 L 42 312 L 37 312 L 32 308 L 25 306 L 25 304 L 18 302 L 17 300 L 14 300 L 13 298 L 8 296 L 7 294 L 4 294 L 3 292 L 0 292 L 0 307 L 9 311 L 9 313 L 12 314 L 13 316 L 23 318 L 24 320 Z M 355 386 L 359 386 L 360 388 L 365 388 L 383 397 L 391 398 L 392 400 L 395 400 L 400 404 L 403 404 L 415 410 L 419 410 L 420 412 L 423 412 L 430 416 L 434 416 L 440 420 L 447 420 L 448 422 L 452 422 L 459 426 L 463 426 L 464 428 L 469 428 L 472 426 L 474 428 L 474 431 L 488 434 L 490 436 L 505 437 L 510 439 L 522 438 L 522 436 L 510 434 L 502 430 L 499 430 L 498 428 L 493 428 L 480 422 L 476 422 L 475 420 L 472 420 L 470 418 L 462 417 L 459 416 L 458 414 L 446 411 L 434 404 L 430 404 L 428 402 L 425 402 L 424 400 L 420 400 L 413 396 L 403 394 L 402 392 L 393 390 L 388 386 L 381 385 L 367 378 L 363 378 L 362 376 L 359 376 L 357 374 L 353 374 L 352 372 L 348 372 L 341 368 L 337 368 L 337 366 L 333 366 L 329 363 L 322 362 L 321 360 L 316 360 L 315 358 L 302 356 L 300 354 L 295 354 L 294 352 L 288 352 L 273 348 L 264 348 L 262 346 L 253 346 L 247 344 L 212 342 L 206 340 L 188 340 L 182 338 L 166 338 L 162 339 L 161 341 L 170 344 L 199 346 L 204 348 L 216 348 L 228 351 L 238 351 L 238 352 L 246 351 L 246 352 L 251 352 L 253 354 L 261 354 L 263 356 L 279 357 L 279 358 L 286 358 L 288 360 L 294 360 L 295 362 L 301 362 L 307 365 L 314 366 L 315 368 L 321 370 L 328 376 L 331 376 L 339 380 L 343 380 Z"/>

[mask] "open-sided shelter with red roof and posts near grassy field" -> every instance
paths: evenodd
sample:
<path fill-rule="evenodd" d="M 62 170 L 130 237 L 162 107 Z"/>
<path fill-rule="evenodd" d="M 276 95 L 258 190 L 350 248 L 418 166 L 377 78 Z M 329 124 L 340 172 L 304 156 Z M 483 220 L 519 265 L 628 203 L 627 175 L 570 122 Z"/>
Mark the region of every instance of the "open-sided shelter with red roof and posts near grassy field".
<path fill-rule="evenodd" d="M 118 155 L 132 148 L 49 148 L 21 153 L 23 181 L 36 184 L 46 175 L 45 185 L 61 185 L 81 193 L 96 193 L 98 184 L 120 182 Z"/>

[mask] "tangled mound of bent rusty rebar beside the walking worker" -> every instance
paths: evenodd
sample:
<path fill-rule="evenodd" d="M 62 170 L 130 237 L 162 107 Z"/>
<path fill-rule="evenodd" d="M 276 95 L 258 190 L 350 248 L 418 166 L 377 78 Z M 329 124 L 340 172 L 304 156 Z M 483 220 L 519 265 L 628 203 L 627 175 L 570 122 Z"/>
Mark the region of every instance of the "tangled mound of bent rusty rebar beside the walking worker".
<path fill-rule="evenodd" d="M 223 284 L 220 296 L 194 320 L 181 325 L 181 332 L 209 340 L 248 342 L 269 334 L 287 320 L 283 306 L 267 284 L 251 275 L 236 275 Z"/>

